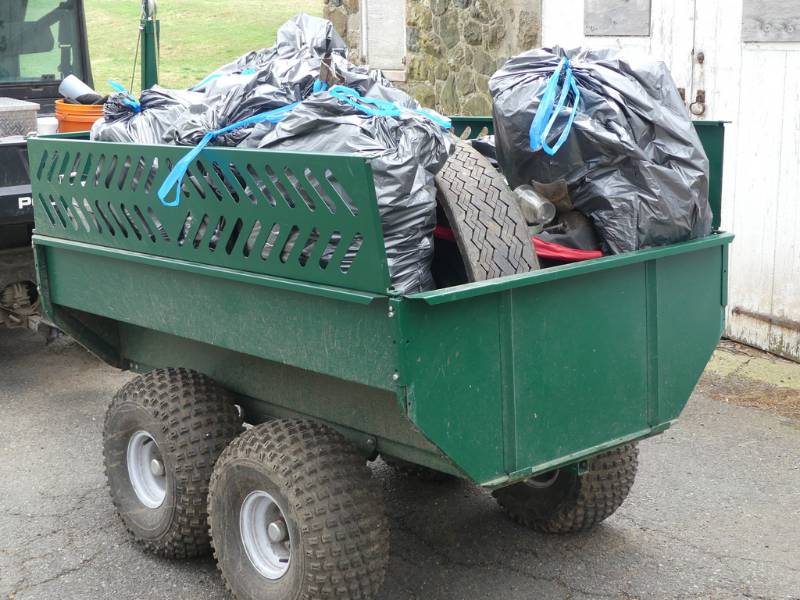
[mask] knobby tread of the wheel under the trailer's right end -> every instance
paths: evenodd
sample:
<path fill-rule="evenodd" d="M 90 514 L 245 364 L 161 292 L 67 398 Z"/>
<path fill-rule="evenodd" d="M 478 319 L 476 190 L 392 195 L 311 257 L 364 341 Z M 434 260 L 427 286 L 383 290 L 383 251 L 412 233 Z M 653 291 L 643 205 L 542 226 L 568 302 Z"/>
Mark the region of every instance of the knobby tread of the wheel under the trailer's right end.
<path fill-rule="evenodd" d="M 547 516 L 524 510 L 503 493 L 504 489 L 496 490 L 494 496 L 514 521 L 535 531 L 586 531 L 610 517 L 622 505 L 633 486 L 638 465 L 639 449 L 635 443 L 591 457 L 586 473 L 581 476 L 570 474 L 573 481 L 569 493 L 551 508 Z"/>

